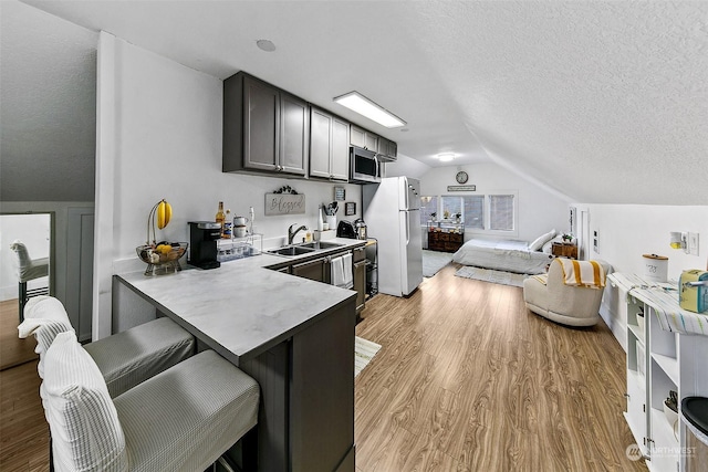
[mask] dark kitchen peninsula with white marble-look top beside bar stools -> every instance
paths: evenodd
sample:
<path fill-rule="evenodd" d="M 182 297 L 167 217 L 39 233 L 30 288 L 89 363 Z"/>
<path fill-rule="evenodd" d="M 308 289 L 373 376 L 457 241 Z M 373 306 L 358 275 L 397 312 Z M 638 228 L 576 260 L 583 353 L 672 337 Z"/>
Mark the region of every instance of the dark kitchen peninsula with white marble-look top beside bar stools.
<path fill-rule="evenodd" d="M 261 254 L 207 271 L 119 274 L 114 286 L 259 382 L 259 470 L 354 471 L 356 293 L 267 269 L 284 260 Z M 123 296 L 114 317 L 129 306 Z"/>

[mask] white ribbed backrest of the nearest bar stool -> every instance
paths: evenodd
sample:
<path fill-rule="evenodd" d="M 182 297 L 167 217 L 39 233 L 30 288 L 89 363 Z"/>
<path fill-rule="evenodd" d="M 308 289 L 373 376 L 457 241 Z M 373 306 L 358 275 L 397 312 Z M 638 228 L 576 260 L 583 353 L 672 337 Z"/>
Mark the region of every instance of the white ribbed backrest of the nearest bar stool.
<path fill-rule="evenodd" d="M 45 353 L 40 388 L 56 471 L 127 471 L 126 443 L 103 376 L 73 332 Z"/>

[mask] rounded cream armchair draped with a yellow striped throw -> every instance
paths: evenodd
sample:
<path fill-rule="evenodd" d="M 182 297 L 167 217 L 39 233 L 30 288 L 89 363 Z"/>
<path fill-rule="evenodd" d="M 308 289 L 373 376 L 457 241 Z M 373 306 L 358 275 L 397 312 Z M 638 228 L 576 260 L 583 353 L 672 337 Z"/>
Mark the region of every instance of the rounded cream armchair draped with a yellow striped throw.
<path fill-rule="evenodd" d="M 612 270 L 604 261 L 596 261 L 604 270 L 604 277 Z M 602 289 L 566 285 L 560 260 L 554 260 L 548 274 L 527 277 L 523 281 L 523 300 L 533 313 L 553 322 L 570 326 L 592 326 L 600 321 Z"/>

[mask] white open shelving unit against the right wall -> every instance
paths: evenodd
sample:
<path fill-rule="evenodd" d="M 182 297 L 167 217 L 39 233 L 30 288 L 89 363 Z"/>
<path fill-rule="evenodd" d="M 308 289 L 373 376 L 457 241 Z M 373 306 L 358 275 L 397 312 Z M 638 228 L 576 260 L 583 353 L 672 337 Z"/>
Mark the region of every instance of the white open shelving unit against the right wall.
<path fill-rule="evenodd" d="M 679 419 L 670 424 L 664 400 L 670 390 L 680 399 L 708 395 L 708 336 L 666 331 L 659 323 L 668 297 L 674 296 L 677 314 L 695 317 L 678 306 L 678 284 L 656 284 L 637 275 L 608 276 L 626 296 L 627 306 L 627 409 L 624 417 L 642 450 L 646 464 L 655 472 L 686 470 L 686 428 Z M 644 313 L 644 327 L 637 323 Z M 706 317 L 708 322 L 708 316 Z"/>

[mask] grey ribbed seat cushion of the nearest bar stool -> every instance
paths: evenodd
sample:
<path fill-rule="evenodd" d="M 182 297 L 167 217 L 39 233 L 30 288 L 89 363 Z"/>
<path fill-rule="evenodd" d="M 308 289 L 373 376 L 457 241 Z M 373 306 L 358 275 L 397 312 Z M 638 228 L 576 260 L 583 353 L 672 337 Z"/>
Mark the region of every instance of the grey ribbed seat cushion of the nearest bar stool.
<path fill-rule="evenodd" d="M 165 370 L 113 401 L 131 471 L 202 471 L 257 423 L 256 380 L 214 350 Z"/>

